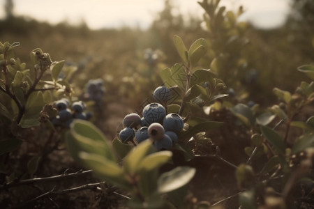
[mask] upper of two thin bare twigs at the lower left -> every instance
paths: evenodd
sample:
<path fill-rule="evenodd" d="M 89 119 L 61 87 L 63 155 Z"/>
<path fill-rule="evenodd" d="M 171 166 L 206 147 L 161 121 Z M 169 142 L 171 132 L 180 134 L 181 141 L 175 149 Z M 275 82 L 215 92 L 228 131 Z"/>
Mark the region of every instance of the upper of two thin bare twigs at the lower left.
<path fill-rule="evenodd" d="M 25 180 L 20 180 L 20 181 L 13 181 L 11 183 L 7 183 L 5 185 L 0 186 L 0 191 L 3 189 L 8 189 L 10 187 L 17 187 L 19 185 L 28 185 L 32 183 L 38 183 L 38 182 L 47 182 L 47 181 L 54 181 L 54 180 L 63 180 L 66 178 L 72 178 L 76 176 L 82 176 L 87 173 L 91 173 L 92 170 L 87 170 L 87 171 L 77 171 L 75 173 L 63 173 L 58 176 L 50 176 L 50 177 L 44 177 L 44 178 L 30 178 L 30 179 L 25 179 Z"/>

